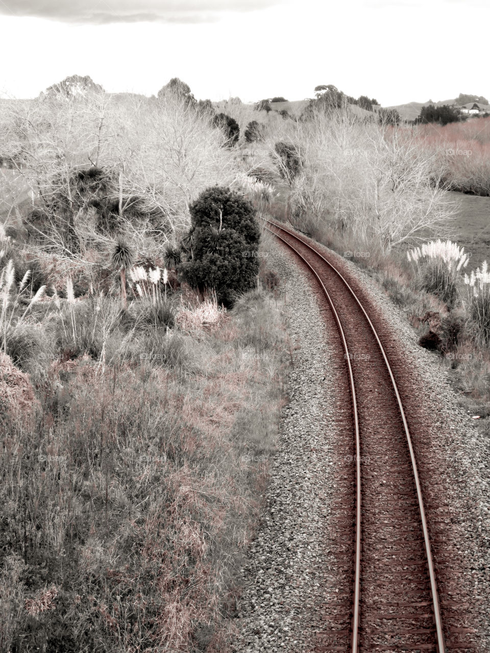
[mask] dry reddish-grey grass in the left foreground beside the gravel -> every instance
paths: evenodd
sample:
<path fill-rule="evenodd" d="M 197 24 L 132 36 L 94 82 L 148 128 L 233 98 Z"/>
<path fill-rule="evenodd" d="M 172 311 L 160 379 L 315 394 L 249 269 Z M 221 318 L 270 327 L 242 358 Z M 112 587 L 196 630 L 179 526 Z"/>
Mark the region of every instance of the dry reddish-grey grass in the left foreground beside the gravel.
<path fill-rule="evenodd" d="M 6 416 L 0 647 L 225 652 L 277 432 L 280 313 L 255 291 L 199 338 L 134 328 L 114 365 L 112 303 L 63 305 L 57 348 L 77 357 Z"/>

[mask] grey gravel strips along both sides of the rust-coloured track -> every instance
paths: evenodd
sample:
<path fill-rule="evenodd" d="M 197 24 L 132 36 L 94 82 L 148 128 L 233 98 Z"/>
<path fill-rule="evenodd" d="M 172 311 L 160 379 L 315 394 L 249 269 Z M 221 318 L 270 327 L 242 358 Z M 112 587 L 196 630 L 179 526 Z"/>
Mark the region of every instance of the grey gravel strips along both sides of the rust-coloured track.
<path fill-rule="evenodd" d="M 376 281 L 325 251 L 362 289 L 370 315 L 389 328 L 389 351 L 399 358 L 395 368 L 404 370 L 409 422 L 427 424 L 423 439 L 416 442 L 419 451 L 430 452 L 418 461 L 427 485 L 427 518 L 429 526 L 433 520 L 436 535 L 448 540 L 448 559 L 455 564 L 451 582 L 461 577 L 461 593 L 457 583 L 448 584 L 449 596 L 458 603 L 470 597 L 468 620 L 461 626 L 476 625 L 477 650 L 490 651 L 490 443 L 459 406 L 446 369 L 436 355 L 417 345 L 416 332 Z M 290 401 L 271 470 L 267 509 L 244 565 L 235 653 L 314 651 L 316 633 L 326 625 L 321 619 L 325 596 L 332 591 L 347 595 L 351 583 L 349 573 L 332 564 L 329 556 L 335 542 L 329 541 L 328 524 L 338 499 L 335 443 L 342 437 L 338 415 L 345 374 L 335 354 L 338 343 L 324 327 L 318 298 L 293 256 L 278 246 L 269 266 L 285 279 L 288 331 L 298 348 L 288 375 Z"/>

